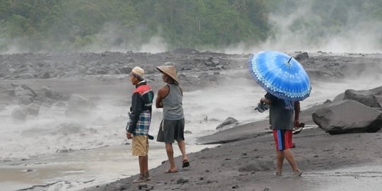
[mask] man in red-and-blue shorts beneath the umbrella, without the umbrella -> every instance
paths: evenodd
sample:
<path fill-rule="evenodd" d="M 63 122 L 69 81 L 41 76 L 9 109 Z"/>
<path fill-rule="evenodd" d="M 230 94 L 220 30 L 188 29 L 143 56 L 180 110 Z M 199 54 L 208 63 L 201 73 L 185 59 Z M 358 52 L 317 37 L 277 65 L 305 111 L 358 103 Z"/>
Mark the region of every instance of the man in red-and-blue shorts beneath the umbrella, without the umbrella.
<path fill-rule="evenodd" d="M 260 99 L 260 103 L 270 105 L 270 127 L 273 132 L 277 152 L 276 175 L 282 175 L 284 158 L 287 158 L 293 170 L 293 175 L 300 176 L 302 172 L 297 166 L 294 154 L 290 149 L 293 147 L 293 128 L 299 125 L 299 101 L 291 102 L 267 93 L 265 97 Z M 294 110 L 296 110 L 296 115 L 294 115 Z"/>

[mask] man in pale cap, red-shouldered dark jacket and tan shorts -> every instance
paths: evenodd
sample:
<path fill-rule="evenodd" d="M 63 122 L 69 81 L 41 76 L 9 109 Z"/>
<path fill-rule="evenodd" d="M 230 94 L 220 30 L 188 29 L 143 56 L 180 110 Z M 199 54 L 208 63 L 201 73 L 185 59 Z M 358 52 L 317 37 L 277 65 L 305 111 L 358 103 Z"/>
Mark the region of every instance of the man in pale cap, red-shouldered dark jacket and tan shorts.
<path fill-rule="evenodd" d="M 130 81 L 135 85 L 132 94 L 132 107 L 126 127 L 127 139 L 132 139 L 132 155 L 139 156 L 139 178 L 134 183 L 142 183 L 150 179 L 148 167 L 149 128 L 151 123 L 151 106 L 154 92 L 143 79 L 144 70 L 136 66 L 130 73 Z"/>

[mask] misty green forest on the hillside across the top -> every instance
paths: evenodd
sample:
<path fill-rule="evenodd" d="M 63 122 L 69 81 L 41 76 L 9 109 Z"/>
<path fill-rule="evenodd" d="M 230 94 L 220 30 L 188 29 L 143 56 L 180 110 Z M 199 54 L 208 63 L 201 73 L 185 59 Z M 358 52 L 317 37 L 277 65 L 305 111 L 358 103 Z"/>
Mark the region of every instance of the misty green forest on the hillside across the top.
<path fill-rule="evenodd" d="M 151 37 L 170 49 L 256 45 L 277 34 L 272 16 L 305 7 L 288 28 L 311 39 L 363 21 L 381 27 L 381 0 L 1 0 L 0 52 L 132 50 Z"/>

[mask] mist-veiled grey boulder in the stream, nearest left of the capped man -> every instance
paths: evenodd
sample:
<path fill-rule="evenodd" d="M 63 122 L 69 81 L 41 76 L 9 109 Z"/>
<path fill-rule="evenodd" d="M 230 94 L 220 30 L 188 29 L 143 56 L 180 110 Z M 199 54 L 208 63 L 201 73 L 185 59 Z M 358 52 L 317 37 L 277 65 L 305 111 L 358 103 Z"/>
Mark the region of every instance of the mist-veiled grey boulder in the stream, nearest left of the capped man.
<path fill-rule="evenodd" d="M 65 112 L 67 117 L 83 117 L 90 114 L 92 103 L 88 98 L 73 94 L 69 98 L 68 109 Z"/>

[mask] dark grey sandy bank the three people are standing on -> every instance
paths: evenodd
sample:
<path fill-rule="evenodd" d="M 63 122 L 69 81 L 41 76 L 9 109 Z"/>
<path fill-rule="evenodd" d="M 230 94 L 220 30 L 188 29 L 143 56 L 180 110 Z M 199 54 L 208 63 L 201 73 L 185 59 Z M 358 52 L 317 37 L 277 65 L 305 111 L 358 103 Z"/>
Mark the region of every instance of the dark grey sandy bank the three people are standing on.
<path fill-rule="evenodd" d="M 381 149 L 376 146 L 382 144 L 381 132 L 331 136 L 321 129 L 305 129 L 294 136 L 294 142 L 293 151 L 303 170 L 301 178 L 291 177 L 287 162 L 284 175 L 274 176 L 274 141 L 268 134 L 190 154 L 191 167 L 179 173 L 163 173 L 168 168 L 168 163 L 163 163 L 149 170 L 152 180 L 146 184 L 153 185 L 154 190 L 231 190 L 236 185 L 234 190 L 320 190 L 328 186 L 324 190 L 330 190 L 330 185 L 346 189 L 347 182 L 352 180 L 357 180 L 354 184 L 362 190 L 381 186 L 378 182 L 382 178 Z M 175 158 L 178 168 L 180 160 Z M 353 171 L 351 167 L 363 171 Z M 137 175 L 88 190 L 139 190 L 139 185 L 132 183 L 135 178 Z"/>

